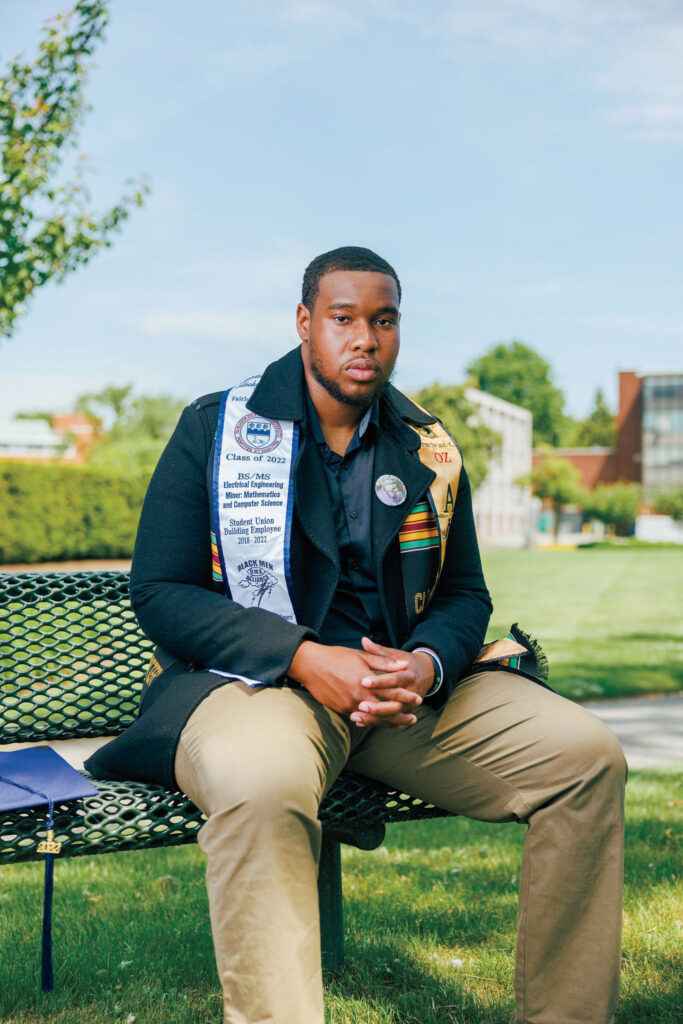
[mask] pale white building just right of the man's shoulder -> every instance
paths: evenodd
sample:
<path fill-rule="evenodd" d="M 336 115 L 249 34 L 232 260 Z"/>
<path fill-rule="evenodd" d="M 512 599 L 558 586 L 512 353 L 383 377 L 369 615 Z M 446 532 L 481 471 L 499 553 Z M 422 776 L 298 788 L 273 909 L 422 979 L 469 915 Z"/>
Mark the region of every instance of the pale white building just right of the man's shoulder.
<path fill-rule="evenodd" d="M 503 439 L 472 500 L 479 541 L 522 547 L 532 534 L 533 499 L 530 489 L 515 480 L 531 472 L 531 414 L 476 388 L 467 388 L 465 394 L 476 407 L 478 419 Z"/>

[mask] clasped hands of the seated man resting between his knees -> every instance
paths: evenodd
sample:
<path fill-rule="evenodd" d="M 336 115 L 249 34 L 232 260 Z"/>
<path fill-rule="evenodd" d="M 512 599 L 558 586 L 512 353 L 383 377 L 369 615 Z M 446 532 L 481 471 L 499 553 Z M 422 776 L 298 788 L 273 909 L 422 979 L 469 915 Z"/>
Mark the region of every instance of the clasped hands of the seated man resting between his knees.
<path fill-rule="evenodd" d="M 362 650 L 354 650 L 304 640 L 287 674 L 358 727 L 413 725 L 414 711 L 434 681 L 431 657 L 383 647 L 369 637 L 361 642 Z"/>

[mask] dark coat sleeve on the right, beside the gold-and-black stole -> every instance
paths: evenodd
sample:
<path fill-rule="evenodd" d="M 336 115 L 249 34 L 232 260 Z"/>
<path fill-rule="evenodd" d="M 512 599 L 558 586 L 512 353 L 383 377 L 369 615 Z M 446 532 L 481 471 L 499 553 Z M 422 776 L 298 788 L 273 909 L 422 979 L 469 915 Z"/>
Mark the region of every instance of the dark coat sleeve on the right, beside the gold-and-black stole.
<path fill-rule="evenodd" d="M 470 483 L 463 466 L 445 548 L 443 569 L 427 614 L 412 631 L 403 650 L 431 647 L 443 666 L 440 688 L 428 700 L 442 705 L 479 653 L 493 611 L 479 557 Z"/>

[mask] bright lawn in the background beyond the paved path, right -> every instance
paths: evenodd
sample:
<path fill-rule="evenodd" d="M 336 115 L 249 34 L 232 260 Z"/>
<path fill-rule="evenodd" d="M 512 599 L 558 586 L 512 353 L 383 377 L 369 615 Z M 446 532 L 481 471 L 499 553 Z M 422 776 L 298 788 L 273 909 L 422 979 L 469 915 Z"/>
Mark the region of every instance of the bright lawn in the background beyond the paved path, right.
<path fill-rule="evenodd" d="M 482 553 L 494 601 L 487 639 L 513 622 L 550 660 L 550 683 L 573 698 L 683 686 L 683 549 Z"/>

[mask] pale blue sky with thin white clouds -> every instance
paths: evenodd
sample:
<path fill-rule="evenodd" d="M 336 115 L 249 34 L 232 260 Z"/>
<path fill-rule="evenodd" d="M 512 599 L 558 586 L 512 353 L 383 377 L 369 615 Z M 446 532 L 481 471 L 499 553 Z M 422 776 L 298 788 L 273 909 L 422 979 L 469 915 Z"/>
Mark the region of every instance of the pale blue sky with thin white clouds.
<path fill-rule="evenodd" d="M 67 4 L 68 6 L 68 4 Z M 0 0 L 0 61 L 59 0 Z M 0 347 L 0 418 L 109 383 L 191 398 L 296 341 L 306 263 L 377 250 L 396 383 L 519 338 L 568 411 L 679 369 L 683 5 L 665 0 L 112 0 L 79 151 L 113 249 Z"/>

